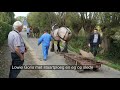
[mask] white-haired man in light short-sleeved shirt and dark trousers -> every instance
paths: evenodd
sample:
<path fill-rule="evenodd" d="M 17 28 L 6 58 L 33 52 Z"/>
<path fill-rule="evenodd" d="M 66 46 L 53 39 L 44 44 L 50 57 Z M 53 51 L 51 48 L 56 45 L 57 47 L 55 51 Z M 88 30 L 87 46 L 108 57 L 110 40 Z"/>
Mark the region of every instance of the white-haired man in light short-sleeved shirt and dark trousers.
<path fill-rule="evenodd" d="M 13 70 L 13 67 L 21 66 L 24 63 L 24 53 L 27 51 L 27 48 L 20 34 L 22 29 L 23 24 L 20 21 L 16 21 L 13 24 L 13 30 L 8 35 L 8 45 L 12 58 L 9 78 L 16 78 L 20 73 L 20 69 Z"/>

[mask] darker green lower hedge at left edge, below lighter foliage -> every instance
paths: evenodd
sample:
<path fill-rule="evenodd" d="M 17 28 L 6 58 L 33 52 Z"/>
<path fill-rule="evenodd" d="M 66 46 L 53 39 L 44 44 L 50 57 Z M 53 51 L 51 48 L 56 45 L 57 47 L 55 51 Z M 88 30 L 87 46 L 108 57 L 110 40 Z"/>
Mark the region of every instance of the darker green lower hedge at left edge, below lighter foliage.
<path fill-rule="evenodd" d="M 4 44 L 4 41 L 6 40 L 8 33 L 12 30 L 12 26 L 4 23 L 4 22 L 0 22 L 0 46 Z"/>

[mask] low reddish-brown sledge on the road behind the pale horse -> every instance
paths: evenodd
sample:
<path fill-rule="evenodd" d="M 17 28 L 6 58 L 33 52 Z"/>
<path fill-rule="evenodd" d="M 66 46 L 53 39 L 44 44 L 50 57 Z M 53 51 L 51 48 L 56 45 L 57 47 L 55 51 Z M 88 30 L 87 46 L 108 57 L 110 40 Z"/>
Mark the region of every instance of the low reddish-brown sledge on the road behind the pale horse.
<path fill-rule="evenodd" d="M 83 58 L 82 55 L 79 54 L 64 54 L 64 58 L 66 59 L 66 63 L 68 65 L 81 65 L 81 66 L 92 66 L 94 71 L 98 71 L 101 67 L 101 62 L 97 62 L 92 59 Z M 84 71 L 84 68 L 82 69 Z"/>

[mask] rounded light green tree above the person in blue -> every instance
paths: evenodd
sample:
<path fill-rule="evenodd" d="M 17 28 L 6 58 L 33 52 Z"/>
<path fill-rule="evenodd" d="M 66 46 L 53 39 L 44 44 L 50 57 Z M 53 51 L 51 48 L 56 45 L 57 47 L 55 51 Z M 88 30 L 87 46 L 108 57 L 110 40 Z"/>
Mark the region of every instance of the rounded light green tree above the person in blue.
<path fill-rule="evenodd" d="M 40 31 L 51 30 L 52 24 L 57 22 L 55 13 L 52 12 L 31 12 L 27 16 L 30 26 L 38 27 Z"/>

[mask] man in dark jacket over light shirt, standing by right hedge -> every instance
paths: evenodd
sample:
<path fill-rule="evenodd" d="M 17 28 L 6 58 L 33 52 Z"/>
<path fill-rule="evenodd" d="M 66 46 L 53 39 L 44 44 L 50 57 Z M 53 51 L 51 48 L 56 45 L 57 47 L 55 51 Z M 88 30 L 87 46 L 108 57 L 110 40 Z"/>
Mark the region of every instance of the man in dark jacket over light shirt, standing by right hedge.
<path fill-rule="evenodd" d="M 94 56 L 97 55 L 100 44 L 101 44 L 100 34 L 98 33 L 97 29 L 94 29 L 93 33 L 89 37 L 89 44 L 88 44 L 88 46 L 90 47 L 90 52 Z"/>

